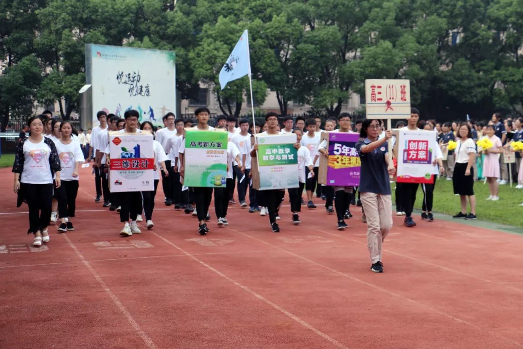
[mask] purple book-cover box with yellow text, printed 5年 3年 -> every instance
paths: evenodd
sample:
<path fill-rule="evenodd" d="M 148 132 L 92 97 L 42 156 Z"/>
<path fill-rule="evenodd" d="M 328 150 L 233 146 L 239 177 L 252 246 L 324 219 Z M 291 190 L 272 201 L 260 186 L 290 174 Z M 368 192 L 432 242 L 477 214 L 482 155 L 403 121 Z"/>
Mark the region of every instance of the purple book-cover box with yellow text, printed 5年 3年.
<path fill-rule="evenodd" d="M 320 154 L 318 181 L 329 186 L 358 186 L 361 161 L 356 150 L 358 133 L 322 132 L 327 140 L 328 157 Z"/>

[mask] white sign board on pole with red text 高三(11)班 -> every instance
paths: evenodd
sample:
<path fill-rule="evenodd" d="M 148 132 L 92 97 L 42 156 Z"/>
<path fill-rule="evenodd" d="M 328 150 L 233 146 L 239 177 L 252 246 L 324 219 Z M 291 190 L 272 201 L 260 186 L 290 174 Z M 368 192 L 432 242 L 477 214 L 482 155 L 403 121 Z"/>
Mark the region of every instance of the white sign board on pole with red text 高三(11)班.
<path fill-rule="evenodd" d="M 410 80 L 365 80 L 368 119 L 407 119 L 411 116 Z"/>

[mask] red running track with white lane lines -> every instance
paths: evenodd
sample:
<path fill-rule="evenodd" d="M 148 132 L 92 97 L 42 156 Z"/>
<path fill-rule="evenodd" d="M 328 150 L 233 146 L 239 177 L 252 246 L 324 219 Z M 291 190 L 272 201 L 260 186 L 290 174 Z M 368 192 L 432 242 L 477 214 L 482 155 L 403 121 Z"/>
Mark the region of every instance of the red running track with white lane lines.
<path fill-rule="evenodd" d="M 340 232 L 320 205 L 300 227 L 286 206 L 280 233 L 238 206 L 218 228 L 211 208 L 200 237 L 160 185 L 154 230 L 120 238 L 81 177 L 76 230 L 37 250 L 0 170 L 2 349 L 523 347 L 520 235 L 394 217 L 374 274 L 356 208 Z"/>

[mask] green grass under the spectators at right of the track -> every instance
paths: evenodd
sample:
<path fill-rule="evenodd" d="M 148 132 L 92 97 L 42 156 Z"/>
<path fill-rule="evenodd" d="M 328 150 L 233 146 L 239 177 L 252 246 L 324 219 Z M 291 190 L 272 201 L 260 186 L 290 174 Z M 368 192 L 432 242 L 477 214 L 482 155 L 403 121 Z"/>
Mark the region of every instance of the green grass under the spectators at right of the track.
<path fill-rule="evenodd" d="M 392 188 L 395 187 L 392 184 Z M 474 194 L 476 196 L 477 219 L 491 221 L 494 223 L 508 224 L 510 226 L 523 227 L 523 189 L 516 189 L 516 184 L 510 188 L 508 184 L 499 186 L 499 201 L 485 200 L 489 194 L 488 184 L 483 181 L 475 182 Z M 394 189 L 392 190 L 392 202 L 394 202 Z M 423 203 L 423 191 L 418 189 L 414 207 L 421 210 Z M 469 207 L 469 206 L 467 206 Z M 433 212 L 456 215 L 461 209 L 459 196 L 454 196 L 452 181 L 445 178 L 438 179 L 434 189 Z M 468 208 L 468 212 L 470 209 Z M 414 217 L 419 219 L 419 215 Z"/>

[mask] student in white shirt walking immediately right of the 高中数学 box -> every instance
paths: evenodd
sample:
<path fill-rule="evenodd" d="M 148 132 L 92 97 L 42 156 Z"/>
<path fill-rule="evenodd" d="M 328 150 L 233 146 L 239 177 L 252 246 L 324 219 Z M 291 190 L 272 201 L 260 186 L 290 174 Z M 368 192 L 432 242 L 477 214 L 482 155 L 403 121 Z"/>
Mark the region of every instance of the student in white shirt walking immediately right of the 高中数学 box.
<path fill-rule="evenodd" d="M 293 133 L 296 134 L 296 141 L 300 143 L 303 131 L 300 129 L 294 129 Z M 309 149 L 303 147 L 303 145 L 298 149 L 298 188 L 289 188 L 289 197 L 291 200 L 291 212 L 292 212 L 292 223 L 294 225 L 300 224 L 300 217 L 298 212 L 301 212 L 301 194 L 303 193 L 303 188 L 305 187 L 305 167 L 309 168 L 309 173 L 311 176 L 314 176 L 314 164 L 312 163 L 311 153 Z"/>

